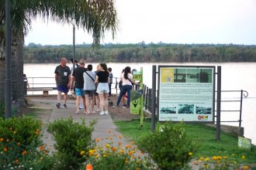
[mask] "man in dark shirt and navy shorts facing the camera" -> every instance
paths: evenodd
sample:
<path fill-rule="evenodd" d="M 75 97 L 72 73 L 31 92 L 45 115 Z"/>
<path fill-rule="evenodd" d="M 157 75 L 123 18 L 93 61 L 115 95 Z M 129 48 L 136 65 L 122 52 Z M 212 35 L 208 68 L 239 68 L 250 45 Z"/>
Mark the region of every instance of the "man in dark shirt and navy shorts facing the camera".
<path fill-rule="evenodd" d="M 55 82 L 57 84 L 57 108 L 61 108 L 61 93 L 64 93 L 64 104 L 63 107 L 67 108 L 67 92 L 69 87 L 71 86 L 71 70 L 69 69 L 67 64 L 67 59 L 61 59 L 61 65 L 57 66 L 54 73 L 55 73 Z"/>

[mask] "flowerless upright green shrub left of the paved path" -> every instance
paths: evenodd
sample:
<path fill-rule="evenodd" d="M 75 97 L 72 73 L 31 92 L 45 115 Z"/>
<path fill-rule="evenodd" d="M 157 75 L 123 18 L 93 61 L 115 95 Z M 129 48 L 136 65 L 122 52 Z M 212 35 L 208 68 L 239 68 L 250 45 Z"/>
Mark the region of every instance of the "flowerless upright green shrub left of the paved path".
<path fill-rule="evenodd" d="M 57 120 L 50 123 L 48 131 L 54 135 L 56 141 L 54 153 L 56 159 L 56 169 L 78 169 L 85 162 L 81 151 L 88 151 L 93 147 L 94 142 L 91 140 L 93 131 L 92 122 L 89 126 L 85 121 L 81 124 L 74 122 L 72 119 Z"/>

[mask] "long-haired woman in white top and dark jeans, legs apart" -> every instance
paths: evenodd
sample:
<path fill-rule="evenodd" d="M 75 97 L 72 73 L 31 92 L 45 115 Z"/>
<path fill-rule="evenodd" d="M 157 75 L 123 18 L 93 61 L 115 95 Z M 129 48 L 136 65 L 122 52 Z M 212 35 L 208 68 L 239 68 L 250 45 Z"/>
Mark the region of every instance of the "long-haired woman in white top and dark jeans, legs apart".
<path fill-rule="evenodd" d="M 133 80 L 133 74 L 130 72 L 130 66 L 126 66 L 124 69 L 124 72 L 121 76 L 123 86 L 119 93 L 118 100 L 116 102 L 116 105 L 113 107 L 119 107 L 120 101 L 122 97 L 127 93 L 127 105 L 123 105 L 123 108 L 129 108 L 130 107 L 130 91 L 133 89 L 133 83 L 135 84 L 135 81 Z"/>

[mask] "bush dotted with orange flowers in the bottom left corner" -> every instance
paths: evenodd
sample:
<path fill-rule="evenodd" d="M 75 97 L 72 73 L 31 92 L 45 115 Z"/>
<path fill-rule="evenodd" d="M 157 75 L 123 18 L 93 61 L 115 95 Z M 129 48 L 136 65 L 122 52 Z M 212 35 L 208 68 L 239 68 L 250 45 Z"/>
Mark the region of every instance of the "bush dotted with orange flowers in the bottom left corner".
<path fill-rule="evenodd" d="M 40 130 L 40 121 L 29 117 L 0 118 L 0 169 L 49 169 Z"/>

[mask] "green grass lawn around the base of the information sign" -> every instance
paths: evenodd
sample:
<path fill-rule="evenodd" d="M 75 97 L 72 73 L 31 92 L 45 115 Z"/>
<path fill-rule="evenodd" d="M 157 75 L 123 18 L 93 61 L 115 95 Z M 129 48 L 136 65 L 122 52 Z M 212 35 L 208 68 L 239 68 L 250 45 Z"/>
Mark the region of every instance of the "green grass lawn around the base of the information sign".
<path fill-rule="evenodd" d="M 150 120 L 148 119 L 144 120 L 143 128 L 140 128 L 139 120 L 116 121 L 115 124 L 123 136 L 132 138 L 135 142 L 141 136 L 150 133 Z M 234 162 L 256 163 L 256 147 L 252 145 L 251 151 L 237 149 L 237 137 L 234 134 L 222 132 L 221 141 L 216 141 L 216 129 L 207 127 L 205 124 L 185 124 L 185 130 L 197 146 L 197 151 L 194 153 L 195 158 L 227 156 L 230 161 Z"/>

